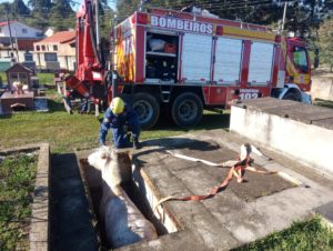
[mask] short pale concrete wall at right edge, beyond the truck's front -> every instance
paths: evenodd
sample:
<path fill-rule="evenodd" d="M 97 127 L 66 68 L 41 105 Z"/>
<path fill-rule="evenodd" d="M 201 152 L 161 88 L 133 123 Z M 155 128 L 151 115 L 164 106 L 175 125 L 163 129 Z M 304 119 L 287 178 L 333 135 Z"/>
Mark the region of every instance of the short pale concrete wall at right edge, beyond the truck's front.
<path fill-rule="evenodd" d="M 333 101 L 333 77 L 312 77 L 312 100 L 323 99 Z"/>

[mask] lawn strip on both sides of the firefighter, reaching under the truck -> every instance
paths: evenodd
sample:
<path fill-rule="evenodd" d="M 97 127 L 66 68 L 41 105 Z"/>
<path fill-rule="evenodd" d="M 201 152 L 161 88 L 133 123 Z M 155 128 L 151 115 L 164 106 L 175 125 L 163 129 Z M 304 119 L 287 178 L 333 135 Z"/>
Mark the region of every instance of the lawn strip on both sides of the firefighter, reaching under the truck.
<path fill-rule="evenodd" d="M 49 101 L 51 112 L 18 112 L 0 117 L 0 145 L 10 148 L 28 143 L 48 142 L 52 152 L 72 152 L 98 145 L 100 122 L 93 114 L 68 114 L 59 100 Z M 101 119 L 101 117 L 100 117 Z M 205 112 L 201 123 L 190 130 L 210 130 L 229 127 L 229 114 Z M 141 140 L 165 138 L 185 133 L 168 121 L 160 121 L 149 131 L 142 131 Z M 110 137 L 110 133 L 109 135 Z"/>

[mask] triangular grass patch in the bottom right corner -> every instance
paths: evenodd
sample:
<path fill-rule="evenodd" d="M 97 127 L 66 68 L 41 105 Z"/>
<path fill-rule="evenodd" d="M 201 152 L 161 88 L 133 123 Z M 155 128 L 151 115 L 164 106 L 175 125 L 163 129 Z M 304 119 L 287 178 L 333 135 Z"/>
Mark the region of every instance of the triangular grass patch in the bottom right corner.
<path fill-rule="evenodd" d="M 319 218 L 295 222 L 289 229 L 252 242 L 233 251 L 329 251 L 333 250 L 333 232 L 321 224 Z"/>

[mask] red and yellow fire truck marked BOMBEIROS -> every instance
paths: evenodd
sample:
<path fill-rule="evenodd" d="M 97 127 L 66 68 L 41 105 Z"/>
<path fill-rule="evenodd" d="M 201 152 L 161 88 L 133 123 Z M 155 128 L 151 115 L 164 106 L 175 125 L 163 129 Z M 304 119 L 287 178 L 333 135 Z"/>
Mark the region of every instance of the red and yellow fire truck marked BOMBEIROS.
<path fill-rule="evenodd" d="M 203 109 L 225 108 L 242 99 L 311 102 L 305 93 L 311 88 L 305 43 L 274 34 L 266 27 L 149 9 L 134 12 L 115 27 L 113 36 L 117 89 L 131 100 L 143 128 L 153 127 L 167 114 L 179 127 L 192 127 L 201 120 Z M 93 66 L 103 73 L 101 66 L 91 63 L 91 69 Z M 81 77 L 82 72 L 93 78 L 91 70 L 84 69 Z M 103 84 L 102 74 L 95 78 L 91 87 L 99 88 L 95 82 Z M 78 88 L 82 80 L 84 77 L 67 82 Z M 93 93 L 92 88 L 85 96 L 99 98 Z"/>

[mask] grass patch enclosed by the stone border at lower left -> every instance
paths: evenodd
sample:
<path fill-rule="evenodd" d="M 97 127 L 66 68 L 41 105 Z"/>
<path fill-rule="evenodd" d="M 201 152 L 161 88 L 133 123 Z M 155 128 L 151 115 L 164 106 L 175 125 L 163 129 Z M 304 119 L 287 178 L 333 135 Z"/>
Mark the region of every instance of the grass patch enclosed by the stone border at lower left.
<path fill-rule="evenodd" d="M 0 163 L 0 250 L 28 250 L 37 157 L 9 155 Z"/>

